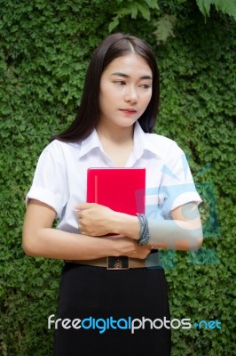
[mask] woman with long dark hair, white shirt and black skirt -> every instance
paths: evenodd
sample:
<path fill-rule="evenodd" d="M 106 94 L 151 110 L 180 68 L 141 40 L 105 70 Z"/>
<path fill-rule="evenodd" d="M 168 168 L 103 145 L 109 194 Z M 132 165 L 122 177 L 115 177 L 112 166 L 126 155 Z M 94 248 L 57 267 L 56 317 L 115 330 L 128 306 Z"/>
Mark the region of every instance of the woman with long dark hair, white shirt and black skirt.
<path fill-rule="evenodd" d="M 201 247 L 201 198 L 183 151 L 150 134 L 159 93 L 149 46 L 135 36 L 106 37 L 90 61 L 75 121 L 39 158 L 23 247 L 66 261 L 59 320 L 50 321 L 56 356 L 170 354 L 170 328 L 159 328 L 170 317 L 158 248 Z M 114 166 L 146 167 L 146 215 L 85 202 L 87 169 Z M 108 270 L 107 256 L 128 256 L 130 269 Z"/>

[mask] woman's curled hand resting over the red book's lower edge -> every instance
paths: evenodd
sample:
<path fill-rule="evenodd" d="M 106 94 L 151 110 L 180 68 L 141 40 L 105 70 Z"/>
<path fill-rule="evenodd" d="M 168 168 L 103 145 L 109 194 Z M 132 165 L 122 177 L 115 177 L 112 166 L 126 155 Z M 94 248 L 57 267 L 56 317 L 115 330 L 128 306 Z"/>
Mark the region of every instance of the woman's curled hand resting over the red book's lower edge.
<path fill-rule="evenodd" d="M 78 229 L 83 235 L 103 236 L 107 233 L 115 233 L 115 212 L 107 206 L 96 203 L 82 203 L 75 206 L 78 210 Z"/>

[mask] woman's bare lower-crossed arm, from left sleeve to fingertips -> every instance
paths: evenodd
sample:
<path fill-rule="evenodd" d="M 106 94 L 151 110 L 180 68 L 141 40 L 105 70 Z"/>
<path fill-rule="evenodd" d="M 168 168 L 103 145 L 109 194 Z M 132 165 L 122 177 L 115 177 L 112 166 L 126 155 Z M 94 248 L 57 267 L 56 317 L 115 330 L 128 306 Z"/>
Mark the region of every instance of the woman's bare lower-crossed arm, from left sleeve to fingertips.
<path fill-rule="evenodd" d="M 23 249 L 27 255 L 64 260 L 90 260 L 100 257 L 128 255 L 144 259 L 150 247 L 121 237 L 93 238 L 53 229 L 55 210 L 38 200 L 30 199 L 23 226 Z"/>

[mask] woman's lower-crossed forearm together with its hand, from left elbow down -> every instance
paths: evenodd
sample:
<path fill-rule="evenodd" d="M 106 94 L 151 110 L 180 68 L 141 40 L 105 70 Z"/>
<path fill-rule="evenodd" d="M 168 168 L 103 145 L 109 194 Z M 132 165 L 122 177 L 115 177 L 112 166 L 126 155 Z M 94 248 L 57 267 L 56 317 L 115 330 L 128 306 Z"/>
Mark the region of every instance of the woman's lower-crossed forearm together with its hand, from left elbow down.
<path fill-rule="evenodd" d="M 23 231 L 23 248 L 27 255 L 63 260 L 92 260 L 120 255 L 144 259 L 151 249 L 138 246 L 137 241 L 124 236 L 93 238 L 51 228 L 32 233 Z"/>

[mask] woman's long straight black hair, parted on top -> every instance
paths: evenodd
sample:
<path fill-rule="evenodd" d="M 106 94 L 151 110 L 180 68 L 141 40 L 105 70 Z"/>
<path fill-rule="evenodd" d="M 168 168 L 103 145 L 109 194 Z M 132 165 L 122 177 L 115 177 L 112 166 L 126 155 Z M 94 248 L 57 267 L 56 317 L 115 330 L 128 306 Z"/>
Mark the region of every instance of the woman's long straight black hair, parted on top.
<path fill-rule="evenodd" d="M 153 73 L 152 98 L 145 112 L 138 118 L 144 132 L 152 132 L 156 122 L 160 97 L 159 71 L 155 57 L 149 45 L 140 38 L 115 33 L 107 36 L 92 55 L 83 86 L 81 105 L 75 120 L 66 131 L 53 136 L 52 140 L 76 142 L 90 135 L 99 120 L 99 90 L 102 73 L 115 58 L 129 53 L 137 53 L 143 57 Z"/>

